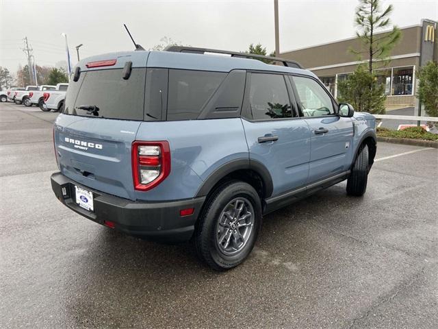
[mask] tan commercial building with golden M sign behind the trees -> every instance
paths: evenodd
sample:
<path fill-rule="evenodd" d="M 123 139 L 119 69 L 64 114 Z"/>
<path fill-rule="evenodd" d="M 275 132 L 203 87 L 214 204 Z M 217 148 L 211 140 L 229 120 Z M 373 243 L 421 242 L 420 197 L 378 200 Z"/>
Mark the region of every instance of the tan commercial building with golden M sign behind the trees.
<path fill-rule="evenodd" d="M 415 106 L 418 68 L 429 60 L 438 60 L 437 22 L 423 19 L 421 24 L 400 28 L 402 40 L 391 52 L 390 62 L 376 63 L 378 79 L 385 83 L 388 108 Z M 376 38 L 385 32 L 376 34 Z M 363 46 L 362 46 L 363 47 Z M 359 38 L 348 38 L 281 53 L 282 58 L 296 60 L 315 75 L 337 97 L 337 82 L 345 79 L 358 64 L 368 62 L 368 55 L 358 61 L 349 49 L 361 49 Z M 380 65 L 379 65 L 380 64 Z"/>

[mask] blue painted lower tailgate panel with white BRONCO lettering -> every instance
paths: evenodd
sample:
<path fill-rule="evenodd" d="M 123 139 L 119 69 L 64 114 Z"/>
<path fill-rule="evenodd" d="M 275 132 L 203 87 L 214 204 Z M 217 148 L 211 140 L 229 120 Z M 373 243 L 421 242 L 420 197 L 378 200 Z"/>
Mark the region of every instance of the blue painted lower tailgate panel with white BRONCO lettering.
<path fill-rule="evenodd" d="M 134 199 L 131 144 L 139 126 L 60 114 L 54 130 L 60 171 L 84 186 Z"/>

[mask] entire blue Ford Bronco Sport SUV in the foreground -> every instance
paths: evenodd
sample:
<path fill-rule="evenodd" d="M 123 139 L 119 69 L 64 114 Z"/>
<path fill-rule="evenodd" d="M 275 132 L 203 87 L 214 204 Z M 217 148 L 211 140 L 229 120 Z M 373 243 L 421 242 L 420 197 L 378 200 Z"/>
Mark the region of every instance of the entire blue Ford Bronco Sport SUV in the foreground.
<path fill-rule="evenodd" d="M 343 180 L 348 195 L 363 195 L 376 121 L 338 104 L 296 62 L 207 52 L 224 51 L 81 60 L 54 124 L 51 185 L 83 217 L 192 239 L 205 263 L 225 270 L 250 254 L 262 215 Z"/>

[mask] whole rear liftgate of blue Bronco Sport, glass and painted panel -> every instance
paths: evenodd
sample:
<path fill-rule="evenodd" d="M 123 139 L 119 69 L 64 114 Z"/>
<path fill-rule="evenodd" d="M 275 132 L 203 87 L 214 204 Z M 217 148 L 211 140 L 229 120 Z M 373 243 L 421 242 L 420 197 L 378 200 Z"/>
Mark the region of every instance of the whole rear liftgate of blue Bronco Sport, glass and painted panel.
<path fill-rule="evenodd" d="M 127 60 L 125 56 L 117 65 L 93 70 L 81 66 L 79 80 L 70 81 L 63 113 L 55 121 L 54 141 L 58 166 L 68 178 L 135 199 L 131 145 L 144 117 L 146 69 L 133 65 L 129 79 L 124 79 Z"/>

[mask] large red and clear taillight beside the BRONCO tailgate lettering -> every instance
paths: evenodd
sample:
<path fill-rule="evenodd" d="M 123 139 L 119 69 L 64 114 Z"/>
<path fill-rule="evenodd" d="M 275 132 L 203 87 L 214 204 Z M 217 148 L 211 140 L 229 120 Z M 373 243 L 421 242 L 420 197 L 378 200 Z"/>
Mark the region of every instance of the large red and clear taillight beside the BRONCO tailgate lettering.
<path fill-rule="evenodd" d="M 170 147 L 167 141 L 132 143 L 132 176 L 137 191 L 148 191 L 170 173 Z"/>

